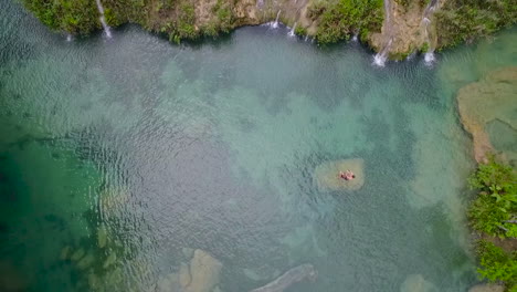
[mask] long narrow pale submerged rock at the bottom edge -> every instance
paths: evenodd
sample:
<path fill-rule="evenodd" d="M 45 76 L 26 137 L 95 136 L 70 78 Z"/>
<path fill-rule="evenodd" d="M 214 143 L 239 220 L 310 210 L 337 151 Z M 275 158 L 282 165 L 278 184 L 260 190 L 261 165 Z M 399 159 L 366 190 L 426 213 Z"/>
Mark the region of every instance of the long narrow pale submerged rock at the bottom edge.
<path fill-rule="evenodd" d="M 250 292 L 282 292 L 292 284 L 300 282 L 305 279 L 315 281 L 316 277 L 317 272 L 314 267 L 306 263 L 288 270 L 273 282 L 266 284 L 265 286 L 253 289 Z"/>

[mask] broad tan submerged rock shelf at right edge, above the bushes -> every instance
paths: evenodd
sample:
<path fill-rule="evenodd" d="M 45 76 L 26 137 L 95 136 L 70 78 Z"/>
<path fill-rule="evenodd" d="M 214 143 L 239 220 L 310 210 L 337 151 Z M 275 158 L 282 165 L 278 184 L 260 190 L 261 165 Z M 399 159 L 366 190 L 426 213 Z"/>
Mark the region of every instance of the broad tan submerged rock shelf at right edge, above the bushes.
<path fill-rule="evenodd" d="M 517 133 L 517 67 L 505 67 L 489 73 L 485 79 L 462 87 L 457 93 L 457 104 L 463 126 L 471 133 L 474 143 L 474 156 L 484 161 L 486 154 L 503 152 L 506 159 L 517 159 L 517 147 L 497 149 L 487 127 L 503 124 Z"/>

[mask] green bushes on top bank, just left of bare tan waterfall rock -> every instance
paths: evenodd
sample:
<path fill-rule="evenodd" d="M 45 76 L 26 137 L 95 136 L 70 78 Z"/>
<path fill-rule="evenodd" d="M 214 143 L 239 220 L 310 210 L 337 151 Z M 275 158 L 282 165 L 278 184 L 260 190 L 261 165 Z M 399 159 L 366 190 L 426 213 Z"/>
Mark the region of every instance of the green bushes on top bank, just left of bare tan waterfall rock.
<path fill-rule="evenodd" d="M 307 15 L 319 19 L 316 39 L 319 43 L 335 43 L 359 31 L 366 39 L 370 31 L 380 31 L 382 25 L 382 0 L 339 0 L 335 3 L 315 1 Z"/>

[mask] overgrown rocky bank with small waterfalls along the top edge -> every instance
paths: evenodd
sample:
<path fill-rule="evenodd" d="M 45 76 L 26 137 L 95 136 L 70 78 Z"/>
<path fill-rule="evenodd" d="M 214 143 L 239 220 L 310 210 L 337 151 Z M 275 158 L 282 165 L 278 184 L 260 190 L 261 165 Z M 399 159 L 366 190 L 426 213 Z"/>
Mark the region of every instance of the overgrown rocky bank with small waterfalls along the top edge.
<path fill-rule="evenodd" d="M 217 38 L 243 25 L 283 22 L 293 33 L 336 43 L 357 35 L 382 59 L 471 42 L 517 21 L 511 0 L 21 0 L 44 24 L 70 35 L 138 23 L 172 42 Z"/>

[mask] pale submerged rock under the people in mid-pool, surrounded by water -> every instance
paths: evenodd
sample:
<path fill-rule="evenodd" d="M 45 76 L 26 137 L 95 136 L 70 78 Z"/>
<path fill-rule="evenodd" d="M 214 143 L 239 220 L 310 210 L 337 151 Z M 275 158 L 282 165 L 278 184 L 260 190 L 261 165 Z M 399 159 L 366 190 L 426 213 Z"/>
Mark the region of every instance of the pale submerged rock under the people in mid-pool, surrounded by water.
<path fill-rule="evenodd" d="M 365 185 L 365 163 L 361 158 L 328 161 L 316 167 L 314 179 L 319 190 L 358 190 Z M 351 170 L 356 178 L 345 180 L 339 177 L 339 171 Z"/>

